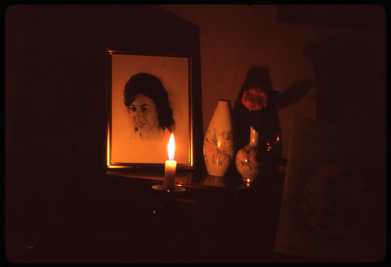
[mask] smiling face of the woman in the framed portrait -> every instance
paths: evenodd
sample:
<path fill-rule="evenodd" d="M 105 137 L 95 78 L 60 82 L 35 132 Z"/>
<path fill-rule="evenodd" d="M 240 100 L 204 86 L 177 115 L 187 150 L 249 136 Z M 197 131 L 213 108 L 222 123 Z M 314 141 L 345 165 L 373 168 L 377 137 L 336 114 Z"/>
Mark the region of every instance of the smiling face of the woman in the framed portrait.
<path fill-rule="evenodd" d="M 143 94 L 137 94 L 130 104 L 130 116 L 141 134 L 159 127 L 156 105 Z"/>

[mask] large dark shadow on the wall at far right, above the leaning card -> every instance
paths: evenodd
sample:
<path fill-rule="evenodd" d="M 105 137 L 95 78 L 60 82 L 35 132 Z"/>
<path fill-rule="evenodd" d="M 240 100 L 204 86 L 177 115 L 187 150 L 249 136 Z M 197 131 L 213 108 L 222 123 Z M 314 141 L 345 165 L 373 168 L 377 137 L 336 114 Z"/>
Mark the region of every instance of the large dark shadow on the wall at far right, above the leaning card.
<path fill-rule="evenodd" d="M 326 39 L 304 48 L 316 82 L 316 118 L 386 131 L 385 69 L 363 42 Z M 380 73 L 379 73 L 380 72 Z"/>

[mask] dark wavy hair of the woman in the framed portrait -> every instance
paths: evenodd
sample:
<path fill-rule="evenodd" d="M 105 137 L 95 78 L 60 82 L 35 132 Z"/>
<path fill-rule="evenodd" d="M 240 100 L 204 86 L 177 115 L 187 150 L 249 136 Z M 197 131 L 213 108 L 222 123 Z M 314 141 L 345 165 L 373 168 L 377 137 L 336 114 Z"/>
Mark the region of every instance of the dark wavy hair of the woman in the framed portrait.
<path fill-rule="evenodd" d="M 124 104 L 128 108 L 128 112 L 130 112 L 130 105 L 133 103 L 134 97 L 139 93 L 155 103 L 160 127 L 163 129 L 167 128 L 172 133 L 175 124 L 173 109 L 170 108 L 168 92 L 159 78 L 142 72 L 130 77 L 124 89 Z M 135 131 L 137 131 L 137 128 L 135 128 Z"/>

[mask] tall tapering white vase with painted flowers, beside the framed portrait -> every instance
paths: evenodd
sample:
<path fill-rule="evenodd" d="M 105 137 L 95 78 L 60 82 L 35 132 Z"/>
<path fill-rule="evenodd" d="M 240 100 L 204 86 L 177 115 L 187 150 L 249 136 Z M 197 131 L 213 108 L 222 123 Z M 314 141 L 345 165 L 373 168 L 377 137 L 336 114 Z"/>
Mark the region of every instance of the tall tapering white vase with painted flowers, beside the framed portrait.
<path fill-rule="evenodd" d="M 203 153 L 206 170 L 211 176 L 225 176 L 234 157 L 231 103 L 218 100 L 206 131 Z"/>

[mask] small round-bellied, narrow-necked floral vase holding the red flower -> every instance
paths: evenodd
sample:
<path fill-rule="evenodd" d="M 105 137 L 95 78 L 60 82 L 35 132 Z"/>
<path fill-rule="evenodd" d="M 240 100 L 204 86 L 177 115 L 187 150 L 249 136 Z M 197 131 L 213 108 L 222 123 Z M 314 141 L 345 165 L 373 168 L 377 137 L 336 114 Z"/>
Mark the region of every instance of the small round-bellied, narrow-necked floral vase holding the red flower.
<path fill-rule="evenodd" d="M 261 163 L 256 160 L 256 156 L 260 154 L 257 148 L 259 137 L 257 131 L 250 127 L 250 142 L 236 155 L 236 168 L 243 180 L 253 181 L 261 172 Z"/>

